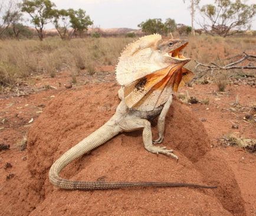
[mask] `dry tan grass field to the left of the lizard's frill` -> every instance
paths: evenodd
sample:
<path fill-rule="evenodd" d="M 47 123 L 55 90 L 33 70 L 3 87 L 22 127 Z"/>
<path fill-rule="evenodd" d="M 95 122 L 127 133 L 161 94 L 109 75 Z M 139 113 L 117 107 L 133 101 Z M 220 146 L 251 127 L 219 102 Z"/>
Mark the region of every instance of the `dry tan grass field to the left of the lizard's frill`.
<path fill-rule="evenodd" d="M 14 85 L 19 78 L 42 72 L 55 77 L 65 68 L 87 69 L 89 74 L 94 74 L 95 65 L 116 64 L 123 47 L 132 40 L 84 38 L 61 41 L 47 38 L 42 42 L 34 39 L 0 41 L 0 85 Z"/>

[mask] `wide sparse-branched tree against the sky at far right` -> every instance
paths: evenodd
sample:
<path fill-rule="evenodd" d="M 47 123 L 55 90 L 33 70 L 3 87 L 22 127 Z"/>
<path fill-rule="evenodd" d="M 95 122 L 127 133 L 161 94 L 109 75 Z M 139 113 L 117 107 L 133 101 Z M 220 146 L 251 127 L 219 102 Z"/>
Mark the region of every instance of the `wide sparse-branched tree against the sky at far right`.
<path fill-rule="evenodd" d="M 200 25 L 207 34 L 229 36 L 250 29 L 256 4 L 246 5 L 241 0 L 215 0 L 201 8 L 204 23 Z"/>

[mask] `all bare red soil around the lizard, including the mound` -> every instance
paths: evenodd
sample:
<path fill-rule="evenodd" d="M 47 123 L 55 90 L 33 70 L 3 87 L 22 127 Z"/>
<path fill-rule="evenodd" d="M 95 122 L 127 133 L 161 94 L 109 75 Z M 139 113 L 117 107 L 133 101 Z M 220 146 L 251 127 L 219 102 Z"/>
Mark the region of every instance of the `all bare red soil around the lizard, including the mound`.
<path fill-rule="evenodd" d="M 212 88 L 201 85 L 189 91 L 205 98 Z M 239 88 L 252 97 L 241 103 L 253 101 L 255 88 Z M 62 172 L 73 180 L 194 182 L 218 185 L 217 190 L 65 191 L 52 187 L 48 181 L 52 162 L 113 115 L 119 103 L 117 89 L 114 84 L 97 84 L 67 89 L 59 95 L 60 90 L 52 89 L 25 98 L 2 99 L 0 117 L 6 121 L 0 130 L 0 144 L 10 144 L 11 149 L 0 152 L 0 215 L 255 215 L 255 155 L 231 147 L 211 148 L 217 145 L 216 138 L 231 130 L 229 120 L 239 122 L 243 135 L 255 138 L 255 126 L 241 120 L 242 112 L 236 117 L 225 109 L 241 92 L 232 87 L 210 105 L 196 104 L 191 109 L 173 103 L 163 145 L 175 150 L 179 162 L 147 152 L 138 131 L 118 135 Z M 212 101 L 215 96 L 210 97 Z M 41 104 L 48 105 L 40 115 Z M 29 129 L 28 150 L 20 152 L 14 144 L 31 125 L 31 117 L 37 120 Z M 207 121 L 199 121 L 202 117 Z M 156 126 L 156 121 L 152 125 Z M 153 134 L 156 132 L 154 127 Z M 6 162 L 11 162 L 12 168 L 4 169 Z M 6 180 L 9 174 L 14 177 Z"/>

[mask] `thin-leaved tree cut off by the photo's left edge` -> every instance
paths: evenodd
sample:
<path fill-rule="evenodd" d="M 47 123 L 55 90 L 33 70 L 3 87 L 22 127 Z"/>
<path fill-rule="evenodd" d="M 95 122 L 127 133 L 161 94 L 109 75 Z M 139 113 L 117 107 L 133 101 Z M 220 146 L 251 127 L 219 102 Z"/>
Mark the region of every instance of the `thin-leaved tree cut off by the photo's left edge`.
<path fill-rule="evenodd" d="M 15 2 L 12 0 L 0 0 L 0 36 L 4 34 L 12 21 L 12 13 Z"/>

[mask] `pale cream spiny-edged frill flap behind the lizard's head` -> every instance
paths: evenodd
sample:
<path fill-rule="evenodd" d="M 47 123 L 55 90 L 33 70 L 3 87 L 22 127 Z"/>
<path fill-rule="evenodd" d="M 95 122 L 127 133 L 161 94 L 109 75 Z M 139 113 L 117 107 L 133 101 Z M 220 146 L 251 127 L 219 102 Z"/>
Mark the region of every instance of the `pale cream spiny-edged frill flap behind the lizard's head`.
<path fill-rule="evenodd" d="M 150 57 L 161 39 L 159 34 L 146 35 L 123 49 L 116 66 L 116 79 L 120 85 L 130 84 L 159 69 Z"/>

